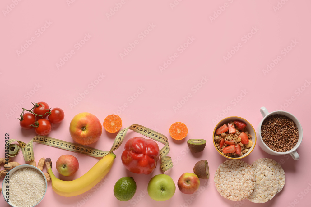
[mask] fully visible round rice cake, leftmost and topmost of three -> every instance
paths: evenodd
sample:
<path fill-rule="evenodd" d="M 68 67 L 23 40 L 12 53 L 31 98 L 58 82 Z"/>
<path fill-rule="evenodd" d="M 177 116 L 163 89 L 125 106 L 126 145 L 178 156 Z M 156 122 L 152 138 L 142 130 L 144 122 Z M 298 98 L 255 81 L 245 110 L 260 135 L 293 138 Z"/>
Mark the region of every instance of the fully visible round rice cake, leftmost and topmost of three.
<path fill-rule="evenodd" d="M 220 195 L 233 201 L 244 200 L 255 188 L 253 169 L 242 160 L 226 160 L 220 164 L 214 182 Z"/>

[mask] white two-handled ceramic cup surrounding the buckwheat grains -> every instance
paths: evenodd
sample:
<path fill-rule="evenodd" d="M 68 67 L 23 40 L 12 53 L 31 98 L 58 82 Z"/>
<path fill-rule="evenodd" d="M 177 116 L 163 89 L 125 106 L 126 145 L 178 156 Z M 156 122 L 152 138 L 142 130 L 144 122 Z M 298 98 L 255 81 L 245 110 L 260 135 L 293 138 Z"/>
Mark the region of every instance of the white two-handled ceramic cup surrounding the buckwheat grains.
<path fill-rule="evenodd" d="M 289 154 L 290 156 L 292 156 L 292 158 L 294 160 L 298 160 L 299 159 L 299 155 L 298 155 L 296 150 L 299 147 L 300 143 L 302 142 L 302 137 L 303 137 L 302 127 L 301 127 L 301 124 L 298 121 L 298 119 L 294 115 L 292 115 L 292 114 L 290 114 L 289 112 L 286 112 L 286 111 L 273 111 L 273 112 L 269 113 L 268 110 L 266 109 L 266 107 L 261 107 L 260 108 L 260 113 L 262 114 L 263 119 L 258 124 L 257 133 L 258 133 L 258 137 L 259 137 L 258 144 L 262 148 L 262 150 L 267 152 L 270 155 L 287 155 L 287 154 Z M 293 120 L 293 122 L 297 125 L 298 133 L 299 133 L 298 142 L 291 150 L 286 151 L 286 152 L 276 152 L 276 151 L 273 151 L 262 140 L 262 137 L 261 137 L 261 126 L 262 126 L 262 123 L 264 122 L 265 119 L 267 119 L 267 117 L 269 117 L 271 115 L 284 115 L 284 116 L 287 116 L 288 118 Z"/>

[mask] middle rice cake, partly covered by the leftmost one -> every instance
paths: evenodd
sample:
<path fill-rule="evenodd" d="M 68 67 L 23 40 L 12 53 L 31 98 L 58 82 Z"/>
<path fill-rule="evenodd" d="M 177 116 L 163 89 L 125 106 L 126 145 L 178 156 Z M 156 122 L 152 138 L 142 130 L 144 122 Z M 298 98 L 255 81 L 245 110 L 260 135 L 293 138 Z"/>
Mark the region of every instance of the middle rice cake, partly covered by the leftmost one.
<path fill-rule="evenodd" d="M 247 199 L 254 203 L 265 203 L 276 195 L 279 182 L 268 166 L 252 164 L 252 168 L 255 175 L 255 189 Z"/>

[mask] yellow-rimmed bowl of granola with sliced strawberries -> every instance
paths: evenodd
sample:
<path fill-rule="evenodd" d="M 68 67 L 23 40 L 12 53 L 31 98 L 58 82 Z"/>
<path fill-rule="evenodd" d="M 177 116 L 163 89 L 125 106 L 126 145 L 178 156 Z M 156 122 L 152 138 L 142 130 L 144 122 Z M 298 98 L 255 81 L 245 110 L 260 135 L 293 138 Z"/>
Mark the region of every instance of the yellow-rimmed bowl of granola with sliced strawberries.
<path fill-rule="evenodd" d="M 229 159 L 241 159 L 253 151 L 256 131 L 246 119 L 230 116 L 216 125 L 213 142 L 220 155 Z"/>

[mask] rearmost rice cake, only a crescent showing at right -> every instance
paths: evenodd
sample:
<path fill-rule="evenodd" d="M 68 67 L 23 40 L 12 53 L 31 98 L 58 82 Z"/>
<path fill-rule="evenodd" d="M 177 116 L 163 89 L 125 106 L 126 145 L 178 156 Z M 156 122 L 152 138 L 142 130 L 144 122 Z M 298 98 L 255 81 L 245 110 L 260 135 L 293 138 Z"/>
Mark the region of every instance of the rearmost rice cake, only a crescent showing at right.
<path fill-rule="evenodd" d="M 279 186 L 277 188 L 276 193 L 279 193 L 283 189 L 285 185 L 285 172 L 278 162 L 269 158 L 260 158 L 258 160 L 255 160 L 253 164 L 264 164 L 268 166 L 270 169 L 272 169 L 274 176 L 276 177 L 276 180 L 279 182 Z"/>

